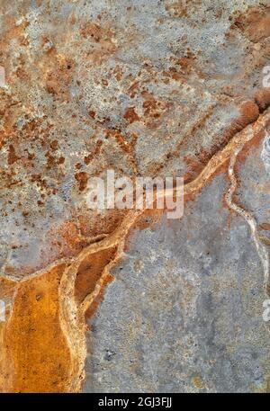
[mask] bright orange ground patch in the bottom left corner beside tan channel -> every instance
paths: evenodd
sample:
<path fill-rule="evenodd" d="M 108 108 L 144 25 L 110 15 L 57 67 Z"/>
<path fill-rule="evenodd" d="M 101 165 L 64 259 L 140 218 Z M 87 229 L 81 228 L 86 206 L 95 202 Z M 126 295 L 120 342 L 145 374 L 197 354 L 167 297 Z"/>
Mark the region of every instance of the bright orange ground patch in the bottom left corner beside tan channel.
<path fill-rule="evenodd" d="M 9 392 L 65 392 L 70 356 L 59 321 L 58 286 L 65 264 L 18 283 L 13 312 L 4 329 Z M 5 371 L 4 371 L 5 372 Z M 1 372 L 2 373 L 2 372 Z"/>

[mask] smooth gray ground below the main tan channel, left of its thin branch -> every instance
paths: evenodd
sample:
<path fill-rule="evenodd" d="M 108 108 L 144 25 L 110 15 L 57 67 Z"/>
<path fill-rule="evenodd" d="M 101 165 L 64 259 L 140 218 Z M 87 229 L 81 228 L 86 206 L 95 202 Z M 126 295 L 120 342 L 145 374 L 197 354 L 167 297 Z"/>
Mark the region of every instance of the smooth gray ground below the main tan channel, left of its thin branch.
<path fill-rule="evenodd" d="M 89 322 L 85 392 L 253 392 L 269 388 L 263 269 L 217 177 L 182 220 L 130 238 Z"/>

